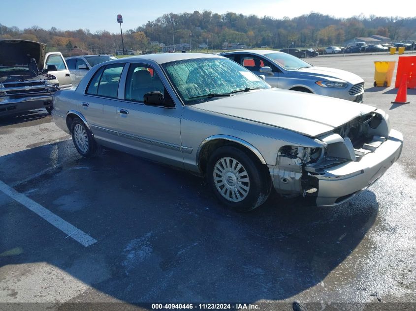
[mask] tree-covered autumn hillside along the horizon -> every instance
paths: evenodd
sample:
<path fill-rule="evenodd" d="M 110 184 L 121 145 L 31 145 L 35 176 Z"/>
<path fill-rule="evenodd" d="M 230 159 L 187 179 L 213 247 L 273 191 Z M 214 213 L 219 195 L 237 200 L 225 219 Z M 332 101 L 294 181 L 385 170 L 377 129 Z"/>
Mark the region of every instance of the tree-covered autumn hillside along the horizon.
<path fill-rule="evenodd" d="M 250 47 L 284 48 L 293 42 L 297 47 L 343 45 L 354 37 L 383 35 L 393 41 L 415 40 L 416 17 L 354 16 L 334 18 L 310 13 L 295 18 L 245 16 L 194 11 L 193 13 L 164 14 L 135 29 L 123 31 L 126 49 L 157 52 L 160 46 L 190 43 L 193 47 L 207 44 L 221 49 L 224 42 L 238 42 Z M 0 24 L 0 38 L 20 38 L 46 43 L 49 51 L 70 51 L 74 47 L 93 54 L 112 54 L 121 49 L 120 33 L 106 30 L 91 33 L 88 29 L 61 30 L 37 26 L 19 29 Z"/>

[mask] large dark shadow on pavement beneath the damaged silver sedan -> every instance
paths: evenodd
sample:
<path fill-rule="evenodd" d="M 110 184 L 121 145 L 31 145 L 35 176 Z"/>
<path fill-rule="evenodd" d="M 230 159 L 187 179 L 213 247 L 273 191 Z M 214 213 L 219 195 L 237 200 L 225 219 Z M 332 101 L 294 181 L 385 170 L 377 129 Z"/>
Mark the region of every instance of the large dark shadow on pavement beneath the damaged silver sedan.
<path fill-rule="evenodd" d="M 65 239 L 0 192 L 0 254 L 22 250 L 0 257 L 8 275 L 1 287 L 30 279 L 28 264 L 41 262 L 92 287 L 72 302 L 95 300 L 95 290 L 136 303 L 282 300 L 320 284 L 378 214 L 368 190 L 331 208 L 273 193 L 250 213 L 230 212 L 200 177 L 116 151 L 84 159 L 71 145 L 61 141 L 0 157 L 0 180 L 97 242 L 83 247 Z M 43 277 L 39 288 L 60 288 L 54 274 Z M 72 286 L 65 282 L 61 291 Z"/>

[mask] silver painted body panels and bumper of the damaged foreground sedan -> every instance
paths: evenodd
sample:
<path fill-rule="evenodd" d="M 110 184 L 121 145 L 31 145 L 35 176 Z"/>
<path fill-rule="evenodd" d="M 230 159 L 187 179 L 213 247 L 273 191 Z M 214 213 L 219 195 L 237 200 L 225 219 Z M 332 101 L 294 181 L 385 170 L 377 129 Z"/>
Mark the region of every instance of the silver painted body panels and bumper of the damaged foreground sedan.
<path fill-rule="evenodd" d="M 280 191 L 278 179 L 282 173 L 289 173 L 288 178 L 290 178 L 290 172 L 282 171 L 277 166 L 280 147 L 285 145 L 321 147 L 325 142 L 316 139 L 317 136 L 363 113 L 371 111 L 380 113 L 384 120 L 384 132 L 390 133 L 390 138 L 382 144 L 383 148 L 379 147 L 371 157 L 366 158 L 372 160 L 348 162 L 327 169 L 323 175 L 320 175 L 317 203 L 322 206 L 336 205 L 356 195 L 379 178 L 400 156 L 403 137 L 399 132 L 388 128 L 388 118 L 382 111 L 366 105 L 300 92 L 270 89 L 253 90 L 207 103 L 184 106 L 166 80 L 159 61 L 200 57 L 218 56 L 150 55 L 111 61 L 112 63 L 143 63 L 154 67 L 174 100 L 175 108 L 137 105 L 125 101 L 122 90 L 125 86 L 127 66 L 122 74 L 118 99 L 109 100 L 85 95 L 84 91 L 90 78 L 101 66 L 97 65 L 87 74 L 86 79 L 81 81 L 76 90 L 56 92 L 53 120 L 68 132 L 65 117 L 71 114 L 71 111 L 76 111 L 75 114 L 81 115 L 86 120 L 87 126 L 90 126 L 99 143 L 194 172 L 201 171 L 197 155 L 201 153 L 207 141 L 216 139 L 235 141 L 251 149 L 259 161 L 268 166 L 275 188 Z M 105 111 L 109 113 L 109 118 L 105 122 L 98 120 L 99 115 L 96 115 L 96 123 L 102 126 L 95 124 L 88 117 L 89 107 L 79 111 L 80 103 L 81 107 L 85 107 L 82 103 L 91 101 L 91 97 L 94 97 L 94 101 L 100 105 L 99 109 L 102 113 Z M 334 101 L 342 104 L 342 113 L 339 113 L 339 105 L 331 105 Z M 117 113 L 119 109 L 128 110 L 127 118 Z M 96 113 L 99 114 L 98 111 Z"/>

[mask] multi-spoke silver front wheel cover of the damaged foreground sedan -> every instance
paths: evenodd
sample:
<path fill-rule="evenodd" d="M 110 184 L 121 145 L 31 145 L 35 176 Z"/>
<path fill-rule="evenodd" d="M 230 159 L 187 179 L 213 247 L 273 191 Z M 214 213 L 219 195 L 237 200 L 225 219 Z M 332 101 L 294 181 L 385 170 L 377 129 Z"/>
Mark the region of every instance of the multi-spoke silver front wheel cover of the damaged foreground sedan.
<path fill-rule="evenodd" d="M 214 166 L 214 184 L 221 195 L 231 202 L 240 202 L 249 194 L 247 170 L 233 158 L 221 158 Z"/>

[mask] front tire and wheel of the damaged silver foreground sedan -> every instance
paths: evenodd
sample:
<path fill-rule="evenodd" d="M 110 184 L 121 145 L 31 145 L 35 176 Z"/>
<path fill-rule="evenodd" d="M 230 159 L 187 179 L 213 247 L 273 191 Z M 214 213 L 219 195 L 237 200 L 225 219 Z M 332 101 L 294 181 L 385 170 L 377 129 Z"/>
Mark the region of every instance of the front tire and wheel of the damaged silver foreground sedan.
<path fill-rule="evenodd" d="M 227 208 L 248 212 L 263 204 L 271 190 L 265 168 L 234 146 L 216 149 L 208 159 L 206 177 L 214 195 Z"/>

